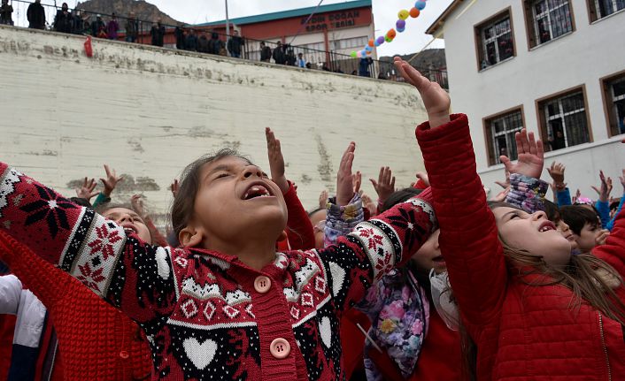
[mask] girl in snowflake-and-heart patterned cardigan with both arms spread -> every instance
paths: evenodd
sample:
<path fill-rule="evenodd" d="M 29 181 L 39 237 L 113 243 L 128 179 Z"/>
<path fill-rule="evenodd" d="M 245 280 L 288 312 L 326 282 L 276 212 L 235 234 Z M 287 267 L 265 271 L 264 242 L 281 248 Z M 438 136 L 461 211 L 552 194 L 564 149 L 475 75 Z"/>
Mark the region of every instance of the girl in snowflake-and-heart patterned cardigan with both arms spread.
<path fill-rule="evenodd" d="M 134 319 L 161 379 L 342 379 L 343 311 L 436 229 L 426 190 L 336 246 L 276 253 L 282 190 L 231 150 L 181 177 L 172 218 L 183 248 L 151 246 L 6 164 L 0 176 L 0 227 L 12 236 L 1 249 L 26 243 Z"/>

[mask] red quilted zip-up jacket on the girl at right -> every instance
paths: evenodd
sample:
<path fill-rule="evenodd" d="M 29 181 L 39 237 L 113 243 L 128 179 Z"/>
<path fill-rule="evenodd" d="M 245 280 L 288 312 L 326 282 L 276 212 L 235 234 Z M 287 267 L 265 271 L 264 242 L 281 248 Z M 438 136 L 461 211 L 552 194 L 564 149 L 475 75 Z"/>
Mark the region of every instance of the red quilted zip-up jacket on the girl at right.
<path fill-rule="evenodd" d="M 528 286 L 506 269 L 495 219 L 475 172 L 467 117 L 417 128 L 435 198 L 440 246 L 463 323 L 477 345 L 479 380 L 625 379 L 621 325 L 563 286 Z M 593 254 L 623 274 L 625 215 Z M 528 279 L 525 279 L 528 280 Z M 623 299 L 621 286 L 617 293 Z"/>

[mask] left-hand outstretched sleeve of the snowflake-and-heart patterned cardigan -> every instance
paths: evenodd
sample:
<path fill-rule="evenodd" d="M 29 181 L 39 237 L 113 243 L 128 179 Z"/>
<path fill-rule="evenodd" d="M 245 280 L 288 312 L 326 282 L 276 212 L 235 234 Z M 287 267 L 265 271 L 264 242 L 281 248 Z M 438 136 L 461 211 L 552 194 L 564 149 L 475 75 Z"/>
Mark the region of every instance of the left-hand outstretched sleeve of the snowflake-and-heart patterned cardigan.
<path fill-rule="evenodd" d="M 68 272 L 138 323 L 162 324 L 174 309 L 173 249 L 150 246 L 135 233 L 81 208 L 0 163 L 0 249 L 19 248 Z M 13 240 L 14 239 L 14 240 Z"/>

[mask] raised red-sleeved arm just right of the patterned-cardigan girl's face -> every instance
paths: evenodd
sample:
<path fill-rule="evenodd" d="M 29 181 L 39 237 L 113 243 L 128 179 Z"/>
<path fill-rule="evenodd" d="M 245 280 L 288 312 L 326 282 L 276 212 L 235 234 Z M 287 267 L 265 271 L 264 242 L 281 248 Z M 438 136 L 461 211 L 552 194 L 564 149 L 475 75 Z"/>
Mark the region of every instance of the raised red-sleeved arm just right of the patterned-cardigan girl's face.
<path fill-rule="evenodd" d="M 284 175 L 284 157 L 280 141 L 275 139 L 274 132 L 269 127 L 265 129 L 267 154 L 271 179 L 280 187 L 284 202 L 289 210 L 287 219 L 287 237 L 290 248 L 294 250 L 314 248 L 314 231 L 308 213 L 297 197 L 297 191 Z"/>

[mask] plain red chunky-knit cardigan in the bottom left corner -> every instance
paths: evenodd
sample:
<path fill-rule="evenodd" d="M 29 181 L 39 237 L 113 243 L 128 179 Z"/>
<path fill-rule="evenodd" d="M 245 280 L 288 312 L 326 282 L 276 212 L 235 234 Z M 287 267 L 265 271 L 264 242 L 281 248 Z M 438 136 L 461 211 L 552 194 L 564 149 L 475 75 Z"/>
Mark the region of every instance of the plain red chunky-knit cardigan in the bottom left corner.
<path fill-rule="evenodd" d="M 57 331 L 64 379 L 150 378 L 150 347 L 127 316 L 26 247 L 3 250 L 0 255 L 48 309 Z"/>

